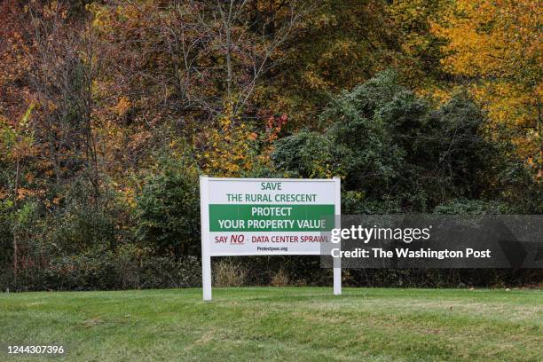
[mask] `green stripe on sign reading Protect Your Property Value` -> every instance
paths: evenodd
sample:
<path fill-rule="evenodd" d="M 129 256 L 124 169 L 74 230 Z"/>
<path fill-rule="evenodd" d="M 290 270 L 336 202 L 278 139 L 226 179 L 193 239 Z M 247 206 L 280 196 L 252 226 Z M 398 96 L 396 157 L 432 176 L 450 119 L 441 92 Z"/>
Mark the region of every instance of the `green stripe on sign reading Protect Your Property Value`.
<path fill-rule="evenodd" d="M 326 232 L 334 205 L 209 205 L 210 232 Z"/>

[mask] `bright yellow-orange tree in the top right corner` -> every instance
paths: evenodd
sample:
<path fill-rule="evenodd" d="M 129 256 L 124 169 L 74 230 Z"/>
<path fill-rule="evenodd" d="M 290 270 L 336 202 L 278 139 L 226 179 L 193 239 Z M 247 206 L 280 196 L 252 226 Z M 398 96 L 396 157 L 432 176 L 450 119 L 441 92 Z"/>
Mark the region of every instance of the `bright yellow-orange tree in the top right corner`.
<path fill-rule="evenodd" d="M 543 176 L 541 4 L 534 0 L 458 0 L 434 23 L 447 43 L 445 69 L 460 76 L 494 121 Z"/>

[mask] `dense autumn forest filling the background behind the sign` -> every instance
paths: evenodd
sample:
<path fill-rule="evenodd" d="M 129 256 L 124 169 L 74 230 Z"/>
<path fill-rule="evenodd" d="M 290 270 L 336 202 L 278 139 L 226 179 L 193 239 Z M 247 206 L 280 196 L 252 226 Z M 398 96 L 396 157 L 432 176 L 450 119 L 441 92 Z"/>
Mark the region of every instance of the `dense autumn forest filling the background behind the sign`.
<path fill-rule="evenodd" d="M 537 0 L 0 1 L 0 287 L 199 285 L 201 174 L 341 176 L 345 214 L 541 214 L 542 12 Z M 314 257 L 214 268 L 218 286 L 331 283 Z"/>

